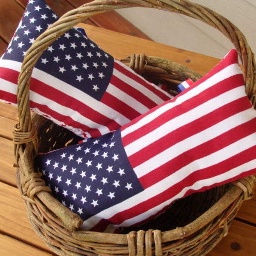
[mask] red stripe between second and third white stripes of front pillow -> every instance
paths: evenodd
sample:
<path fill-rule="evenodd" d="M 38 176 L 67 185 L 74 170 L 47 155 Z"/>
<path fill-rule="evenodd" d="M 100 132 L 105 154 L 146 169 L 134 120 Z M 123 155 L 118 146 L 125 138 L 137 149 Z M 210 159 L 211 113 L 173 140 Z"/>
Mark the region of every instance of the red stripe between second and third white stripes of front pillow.
<path fill-rule="evenodd" d="M 154 141 L 154 143 L 144 147 L 142 150 L 128 156 L 131 166 L 135 168 L 136 166 L 139 166 L 140 164 L 149 160 L 151 157 L 154 157 L 160 152 L 171 148 L 176 143 L 198 134 L 201 131 L 206 130 L 207 128 L 229 118 L 230 116 L 233 116 L 240 111 L 248 109 L 247 102 L 248 98 L 245 96 L 241 99 L 230 102 L 229 104 L 224 105 L 211 113 L 201 116 L 200 118 L 195 119 L 193 122 L 189 122 L 188 124 L 183 125 L 174 131 L 172 131 L 172 128 L 170 128 L 170 132 L 166 134 L 166 136 L 161 137 L 159 140 Z"/>

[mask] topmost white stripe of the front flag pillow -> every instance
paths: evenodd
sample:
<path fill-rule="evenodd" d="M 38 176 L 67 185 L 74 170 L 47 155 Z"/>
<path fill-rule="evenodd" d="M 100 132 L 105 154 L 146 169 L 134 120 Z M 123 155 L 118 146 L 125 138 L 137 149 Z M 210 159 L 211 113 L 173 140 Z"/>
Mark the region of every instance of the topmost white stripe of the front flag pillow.
<path fill-rule="evenodd" d="M 127 134 L 136 131 L 141 126 L 148 124 L 152 120 L 154 120 L 157 116 L 164 113 L 166 110 L 172 109 L 175 106 L 179 106 L 183 102 L 185 102 L 187 99 L 192 99 L 194 96 L 198 95 L 199 93 L 203 92 L 204 90 L 208 89 L 209 87 L 215 85 L 216 83 L 227 79 L 230 77 L 230 74 L 236 75 L 241 74 L 241 69 L 237 64 L 231 64 L 230 66 L 224 68 L 220 72 L 216 73 L 215 75 L 211 76 L 206 81 L 202 82 L 201 84 L 198 84 L 195 87 L 192 87 L 191 90 L 187 91 L 183 95 L 178 96 L 174 100 L 170 101 L 170 103 L 166 105 L 162 105 L 160 108 L 156 108 L 154 112 L 150 114 L 150 116 L 145 116 L 142 119 L 140 119 L 138 122 L 136 122 L 133 125 L 128 126 L 124 130 L 122 130 L 122 137 L 126 136 Z"/>

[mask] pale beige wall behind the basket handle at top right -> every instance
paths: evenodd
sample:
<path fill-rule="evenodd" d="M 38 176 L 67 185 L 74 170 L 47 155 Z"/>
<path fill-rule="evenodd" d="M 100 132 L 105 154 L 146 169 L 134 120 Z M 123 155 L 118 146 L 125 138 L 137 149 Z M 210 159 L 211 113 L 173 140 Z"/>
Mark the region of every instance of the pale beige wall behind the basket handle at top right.
<path fill-rule="evenodd" d="M 245 35 L 256 53 L 256 0 L 192 0 L 223 15 Z M 119 14 L 159 43 L 222 58 L 233 48 L 220 32 L 201 21 L 147 8 L 118 10 Z"/>

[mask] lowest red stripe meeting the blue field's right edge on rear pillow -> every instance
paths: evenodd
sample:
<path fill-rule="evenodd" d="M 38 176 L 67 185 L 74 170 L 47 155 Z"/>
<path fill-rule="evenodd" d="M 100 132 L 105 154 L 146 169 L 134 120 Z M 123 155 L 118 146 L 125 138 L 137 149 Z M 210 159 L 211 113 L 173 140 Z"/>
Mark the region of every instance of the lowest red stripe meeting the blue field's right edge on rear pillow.
<path fill-rule="evenodd" d="M 110 108 L 112 108 L 113 110 L 122 114 L 123 116 L 125 116 L 129 120 L 132 120 L 137 116 L 140 116 L 140 113 L 138 111 L 136 111 L 131 106 L 122 102 L 122 100 L 114 97 L 113 95 L 111 95 L 107 91 L 104 93 L 104 95 L 101 99 L 101 102 L 104 103 L 105 105 L 108 105 Z M 117 130 L 118 128 L 120 128 L 120 125 L 118 127 L 117 126 L 113 127 L 113 129 L 111 131 Z"/>

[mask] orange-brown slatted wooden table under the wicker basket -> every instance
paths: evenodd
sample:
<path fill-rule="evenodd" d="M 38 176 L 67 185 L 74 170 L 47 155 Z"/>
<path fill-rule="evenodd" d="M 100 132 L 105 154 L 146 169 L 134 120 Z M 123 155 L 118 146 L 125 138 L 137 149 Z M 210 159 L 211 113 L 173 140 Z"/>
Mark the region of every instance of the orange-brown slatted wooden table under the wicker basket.
<path fill-rule="evenodd" d="M 218 59 L 174 47 L 157 44 L 90 25 L 81 25 L 87 35 L 115 58 L 142 53 L 168 58 L 204 75 Z M 12 127 L 17 122 L 17 108 L 0 103 L 0 255 L 54 256 L 32 230 L 25 205 L 15 184 Z M 256 255 L 256 196 L 246 201 L 228 235 L 208 256 Z"/>

